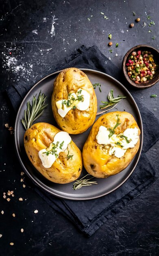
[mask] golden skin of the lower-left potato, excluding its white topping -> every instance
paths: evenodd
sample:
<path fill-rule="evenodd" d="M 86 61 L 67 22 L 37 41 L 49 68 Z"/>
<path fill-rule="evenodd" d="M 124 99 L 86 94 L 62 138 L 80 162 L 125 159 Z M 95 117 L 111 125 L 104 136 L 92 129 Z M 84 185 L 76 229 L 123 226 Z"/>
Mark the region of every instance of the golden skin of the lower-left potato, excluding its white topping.
<path fill-rule="evenodd" d="M 69 183 L 76 180 L 82 171 L 82 155 L 76 144 L 71 141 L 65 152 L 59 153 L 59 158 L 50 168 L 45 168 L 39 158 L 39 150 L 46 148 L 60 132 L 58 128 L 47 123 L 33 124 L 24 134 L 24 147 L 26 154 L 33 166 L 46 179 L 55 183 Z M 67 155 L 73 155 L 72 160 L 67 160 Z"/>

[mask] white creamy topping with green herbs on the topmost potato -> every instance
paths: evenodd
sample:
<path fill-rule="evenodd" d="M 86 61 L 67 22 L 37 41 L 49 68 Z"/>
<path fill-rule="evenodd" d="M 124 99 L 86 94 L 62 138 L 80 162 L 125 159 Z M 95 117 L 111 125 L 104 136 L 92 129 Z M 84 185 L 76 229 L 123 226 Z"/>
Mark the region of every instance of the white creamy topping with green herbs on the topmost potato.
<path fill-rule="evenodd" d="M 87 91 L 78 89 L 77 93 L 69 93 L 68 99 L 62 99 L 56 102 L 57 111 L 61 117 L 65 117 L 67 113 L 74 108 L 78 110 L 87 110 L 89 108 L 90 95 Z"/>

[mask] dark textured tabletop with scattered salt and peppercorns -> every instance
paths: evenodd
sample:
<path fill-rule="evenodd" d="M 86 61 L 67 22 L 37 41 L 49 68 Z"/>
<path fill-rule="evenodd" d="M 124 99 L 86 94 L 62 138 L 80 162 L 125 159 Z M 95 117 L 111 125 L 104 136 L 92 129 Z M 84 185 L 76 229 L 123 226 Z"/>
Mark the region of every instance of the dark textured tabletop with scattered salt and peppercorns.
<path fill-rule="evenodd" d="M 15 155 L 13 135 L 4 126 L 14 126 L 15 120 L 5 89 L 16 83 L 33 85 L 82 44 L 96 44 L 118 67 L 134 45 L 144 43 L 159 48 L 159 2 L 4 0 L 1 10 L 0 212 L 4 214 L 0 213 L 0 256 L 159 255 L 159 180 L 86 238 L 37 195 L 26 176 L 21 182 L 22 169 Z M 109 19 L 104 19 L 101 12 Z M 155 26 L 148 26 L 148 15 Z M 141 20 L 136 23 L 138 17 Z M 135 25 L 130 29 L 132 22 Z M 152 32 L 148 33 L 149 29 Z M 107 46 L 109 33 L 112 53 Z M 115 43 L 119 43 L 118 48 Z M 135 95 L 159 118 L 158 98 L 150 98 L 154 93 L 159 96 L 159 84 L 137 90 Z M 157 169 L 158 148 L 159 142 L 147 153 Z M 8 190 L 15 194 L 10 202 L 3 198 Z M 18 200 L 20 197 L 23 201 Z"/>

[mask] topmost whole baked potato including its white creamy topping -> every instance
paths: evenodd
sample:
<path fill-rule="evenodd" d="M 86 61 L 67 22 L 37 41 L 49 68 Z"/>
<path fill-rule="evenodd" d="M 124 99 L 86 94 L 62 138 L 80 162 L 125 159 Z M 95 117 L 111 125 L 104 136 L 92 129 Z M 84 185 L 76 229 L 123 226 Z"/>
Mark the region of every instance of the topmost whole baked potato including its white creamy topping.
<path fill-rule="evenodd" d="M 52 111 L 61 130 L 70 134 L 85 132 L 94 123 L 97 98 L 84 72 L 75 67 L 60 72 L 54 81 Z"/>

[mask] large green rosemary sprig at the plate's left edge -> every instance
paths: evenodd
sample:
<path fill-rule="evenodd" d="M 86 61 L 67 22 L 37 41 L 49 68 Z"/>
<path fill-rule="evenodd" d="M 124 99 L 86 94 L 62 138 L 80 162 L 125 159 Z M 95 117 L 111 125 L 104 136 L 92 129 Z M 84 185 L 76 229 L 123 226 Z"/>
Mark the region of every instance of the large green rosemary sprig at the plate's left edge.
<path fill-rule="evenodd" d="M 46 97 L 44 93 L 41 94 L 40 91 L 37 99 L 36 96 L 33 96 L 32 105 L 30 105 L 30 101 L 27 102 L 27 110 L 24 110 L 24 118 L 21 120 L 26 130 L 32 126 L 33 122 L 42 115 L 44 108 L 48 106 L 48 104 L 45 104 Z"/>

